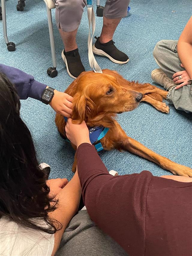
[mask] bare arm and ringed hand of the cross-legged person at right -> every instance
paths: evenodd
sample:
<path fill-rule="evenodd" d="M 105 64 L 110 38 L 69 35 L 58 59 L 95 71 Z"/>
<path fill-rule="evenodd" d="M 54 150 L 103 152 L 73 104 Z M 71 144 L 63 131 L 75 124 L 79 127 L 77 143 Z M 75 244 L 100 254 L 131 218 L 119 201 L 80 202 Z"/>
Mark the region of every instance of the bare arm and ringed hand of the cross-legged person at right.
<path fill-rule="evenodd" d="M 190 84 L 192 79 L 192 17 L 187 22 L 177 44 L 179 59 L 184 71 L 173 74 L 173 82 L 179 84 L 175 89 L 179 89 L 184 85 Z M 179 79 L 179 76 L 182 79 Z"/>

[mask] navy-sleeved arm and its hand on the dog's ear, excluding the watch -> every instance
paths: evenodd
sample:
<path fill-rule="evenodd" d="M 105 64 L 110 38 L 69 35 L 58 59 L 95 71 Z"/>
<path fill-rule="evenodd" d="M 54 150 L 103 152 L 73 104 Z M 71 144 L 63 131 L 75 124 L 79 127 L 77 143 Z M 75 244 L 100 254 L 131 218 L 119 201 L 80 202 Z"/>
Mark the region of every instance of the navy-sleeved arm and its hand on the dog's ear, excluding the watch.
<path fill-rule="evenodd" d="M 19 98 L 25 100 L 28 97 L 41 101 L 43 91 L 48 87 L 34 79 L 33 76 L 25 72 L 0 64 L 0 72 L 5 74 L 7 78 L 15 85 Z M 72 114 L 73 97 L 64 93 L 54 90 L 54 96 L 49 105 L 55 112 L 70 117 Z"/>

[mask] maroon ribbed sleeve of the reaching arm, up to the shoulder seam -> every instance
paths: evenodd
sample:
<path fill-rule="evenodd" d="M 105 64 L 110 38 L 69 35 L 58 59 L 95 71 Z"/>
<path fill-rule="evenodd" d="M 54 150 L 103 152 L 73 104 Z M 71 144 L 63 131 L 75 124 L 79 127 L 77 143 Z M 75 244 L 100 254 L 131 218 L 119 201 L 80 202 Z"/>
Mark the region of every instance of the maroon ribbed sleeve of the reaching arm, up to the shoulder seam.
<path fill-rule="evenodd" d="M 77 167 L 91 219 L 128 254 L 144 255 L 146 198 L 152 174 L 112 176 L 88 143 L 77 149 Z"/>

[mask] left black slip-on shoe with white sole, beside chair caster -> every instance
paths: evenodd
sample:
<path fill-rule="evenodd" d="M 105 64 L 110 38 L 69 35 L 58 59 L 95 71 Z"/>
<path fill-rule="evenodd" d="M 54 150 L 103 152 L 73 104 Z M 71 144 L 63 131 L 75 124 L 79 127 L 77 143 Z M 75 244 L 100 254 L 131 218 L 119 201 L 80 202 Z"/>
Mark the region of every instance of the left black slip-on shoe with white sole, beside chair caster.
<path fill-rule="evenodd" d="M 82 65 L 78 48 L 69 52 L 62 51 L 61 57 L 66 65 L 67 73 L 72 78 L 77 78 L 83 71 L 85 71 Z"/>

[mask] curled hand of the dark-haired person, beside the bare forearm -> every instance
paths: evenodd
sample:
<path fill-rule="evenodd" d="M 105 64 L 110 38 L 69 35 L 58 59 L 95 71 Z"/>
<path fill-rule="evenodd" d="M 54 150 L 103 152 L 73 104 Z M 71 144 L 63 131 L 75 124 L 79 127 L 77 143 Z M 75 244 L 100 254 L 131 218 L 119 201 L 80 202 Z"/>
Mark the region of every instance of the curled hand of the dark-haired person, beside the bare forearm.
<path fill-rule="evenodd" d="M 49 186 L 50 188 L 49 199 L 53 199 L 61 191 L 61 189 L 67 185 L 68 180 L 65 178 L 64 179 L 48 179 L 46 183 L 47 183 L 47 186 Z"/>

